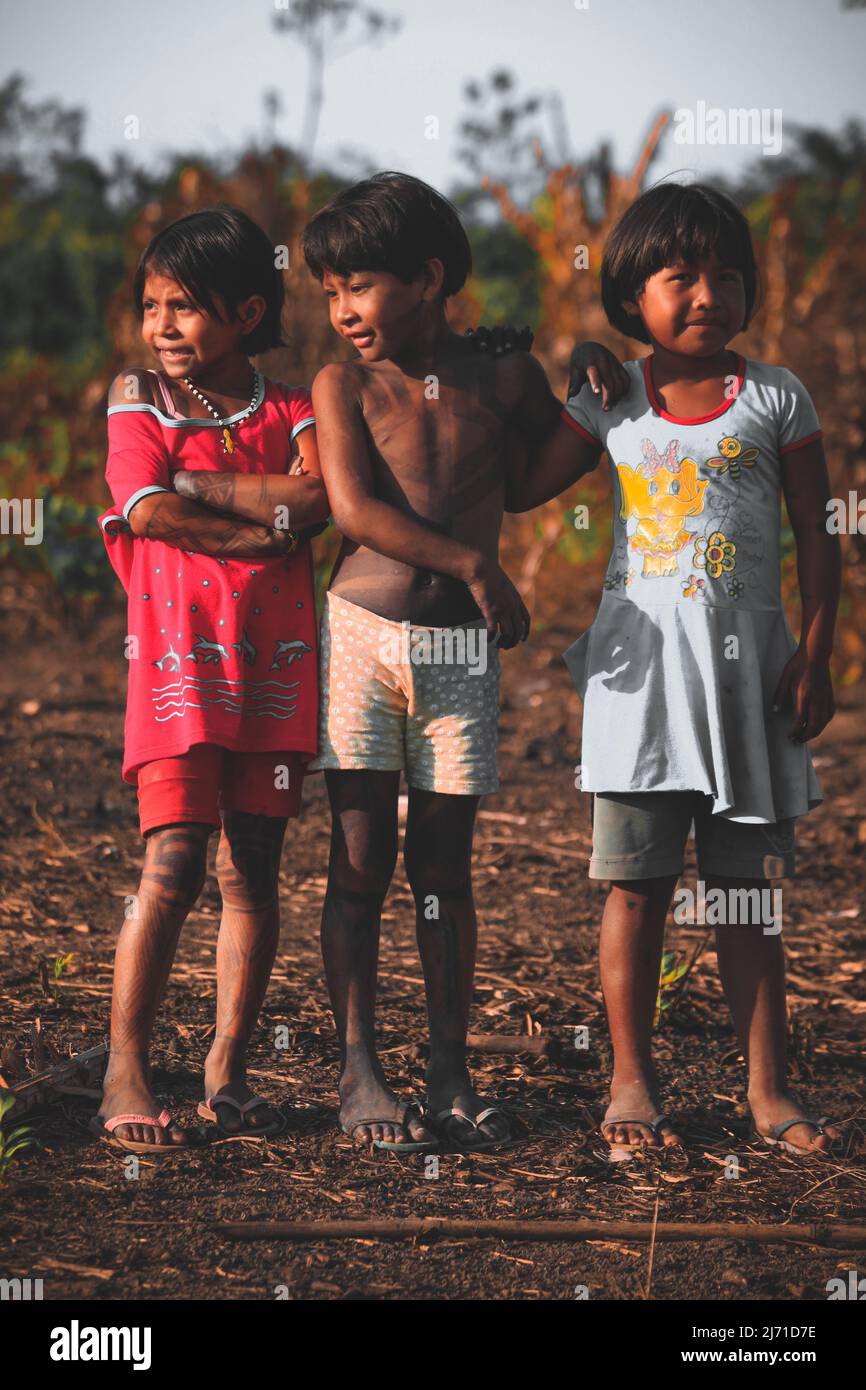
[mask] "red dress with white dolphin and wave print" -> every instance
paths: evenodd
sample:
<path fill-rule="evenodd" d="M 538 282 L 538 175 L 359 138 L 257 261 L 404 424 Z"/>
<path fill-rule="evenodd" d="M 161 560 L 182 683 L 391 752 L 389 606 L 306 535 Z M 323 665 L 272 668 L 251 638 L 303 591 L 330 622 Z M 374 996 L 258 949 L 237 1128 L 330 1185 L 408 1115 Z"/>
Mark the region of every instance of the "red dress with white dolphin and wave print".
<path fill-rule="evenodd" d="M 292 439 L 316 424 L 310 392 L 256 375 L 252 413 L 222 449 L 215 420 L 108 407 L 106 481 L 114 509 L 99 520 L 129 599 L 124 780 L 193 744 L 235 752 L 317 751 L 317 646 L 310 545 L 288 556 L 217 559 L 133 537 L 132 506 L 171 491 L 179 468 L 288 473 Z M 236 416 L 231 417 L 238 420 Z"/>

